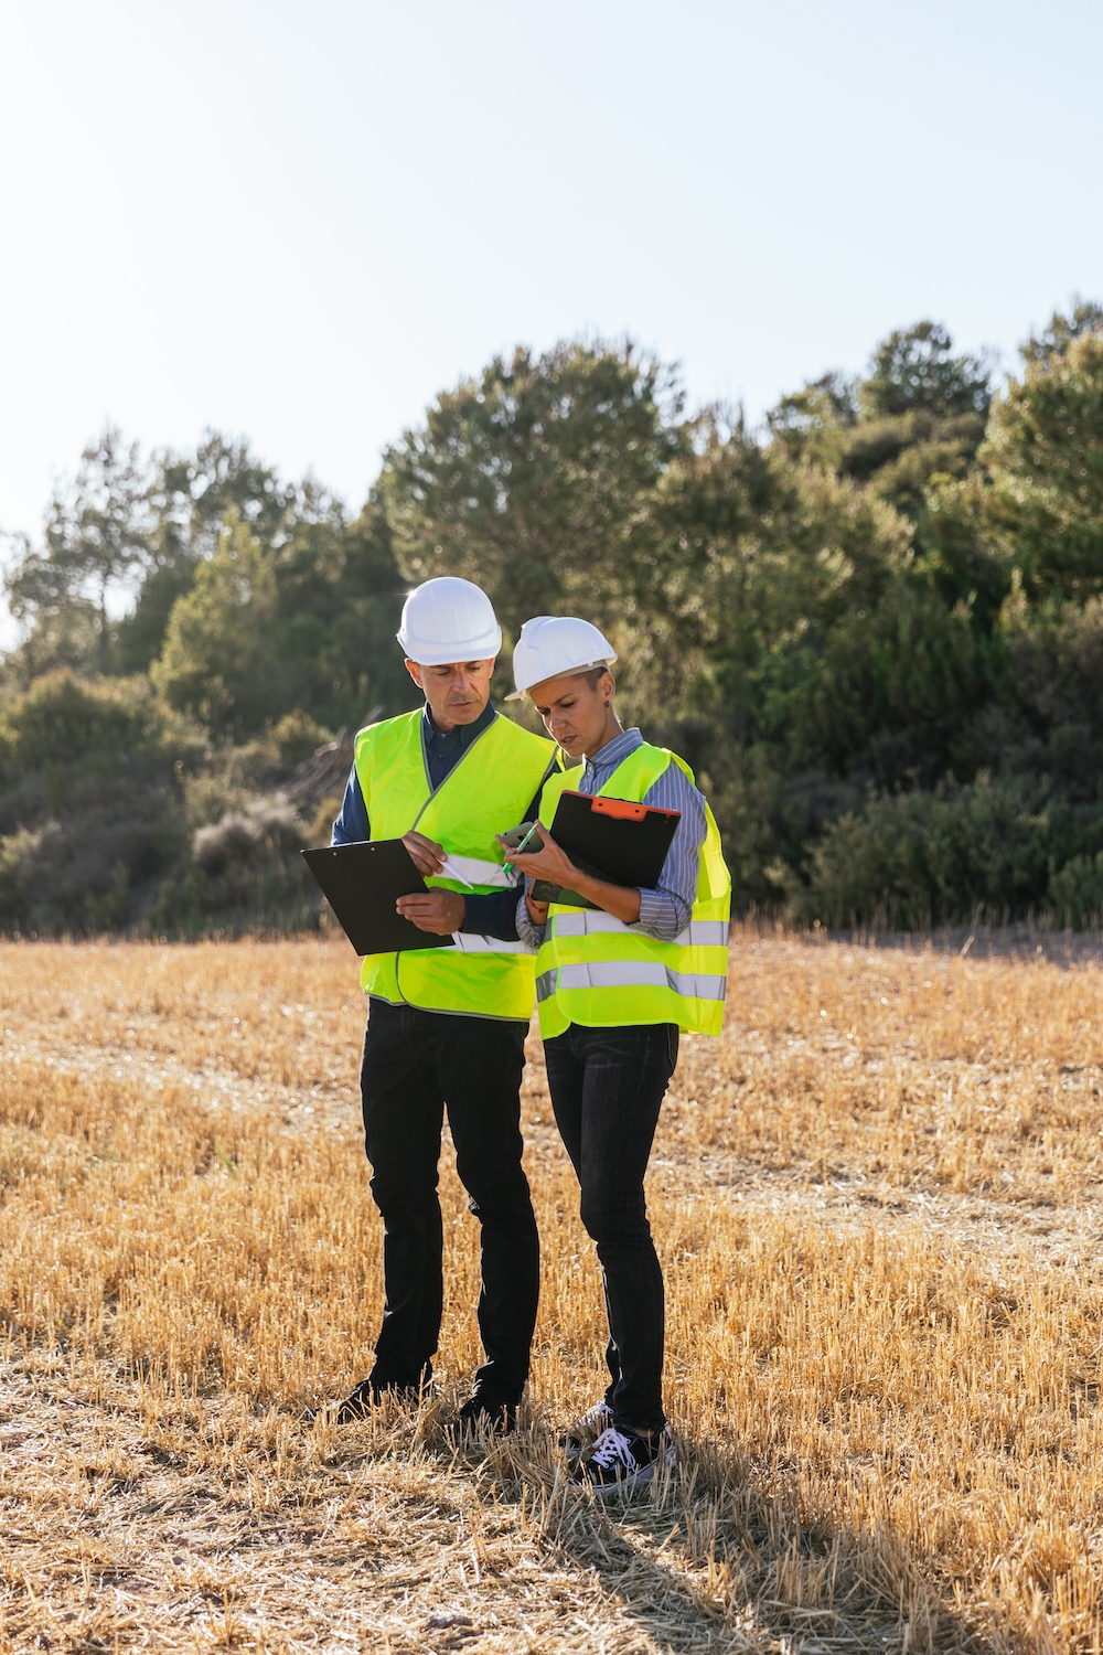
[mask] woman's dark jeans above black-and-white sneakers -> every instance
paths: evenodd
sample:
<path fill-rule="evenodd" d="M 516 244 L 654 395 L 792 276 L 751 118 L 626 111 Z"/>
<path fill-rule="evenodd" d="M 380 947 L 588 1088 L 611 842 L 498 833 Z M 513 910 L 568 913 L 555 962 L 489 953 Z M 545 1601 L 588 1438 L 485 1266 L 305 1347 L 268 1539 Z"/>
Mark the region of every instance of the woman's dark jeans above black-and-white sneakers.
<path fill-rule="evenodd" d="M 544 1041 L 552 1109 L 582 1187 L 580 1216 L 597 1245 L 609 1312 L 614 1425 L 660 1430 L 663 1413 L 663 1271 L 643 1198 L 652 1140 L 678 1063 L 678 1028 L 572 1023 Z"/>

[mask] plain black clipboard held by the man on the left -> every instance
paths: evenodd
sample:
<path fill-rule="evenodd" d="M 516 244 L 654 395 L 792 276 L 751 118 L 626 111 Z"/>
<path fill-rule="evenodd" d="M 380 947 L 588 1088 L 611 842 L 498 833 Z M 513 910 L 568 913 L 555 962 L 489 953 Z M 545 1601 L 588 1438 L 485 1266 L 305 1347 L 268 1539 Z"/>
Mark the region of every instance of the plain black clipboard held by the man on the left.
<path fill-rule="evenodd" d="M 428 890 L 402 839 L 331 844 L 303 851 L 303 861 L 357 953 L 453 947 L 451 937 L 418 930 L 395 914 L 399 897 Z"/>

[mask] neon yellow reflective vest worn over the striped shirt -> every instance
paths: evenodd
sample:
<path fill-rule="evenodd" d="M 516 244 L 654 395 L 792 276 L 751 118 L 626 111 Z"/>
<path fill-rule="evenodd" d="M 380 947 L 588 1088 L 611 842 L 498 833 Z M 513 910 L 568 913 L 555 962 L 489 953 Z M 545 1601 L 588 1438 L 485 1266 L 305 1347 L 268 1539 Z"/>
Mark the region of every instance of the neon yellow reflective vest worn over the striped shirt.
<path fill-rule="evenodd" d="M 638 804 L 671 763 L 693 781 L 693 771 L 676 753 L 645 741 L 614 770 L 600 791 Z M 547 781 L 541 796 L 542 823 L 552 823 L 559 794 L 571 781 L 571 773 Z M 708 804 L 704 819 L 708 832 L 701 846 L 693 915 L 673 942 L 645 937 L 599 909 L 552 902 L 544 943 L 536 957 L 536 1001 L 544 1039 L 562 1034 L 571 1023 L 587 1028 L 676 1023 L 683 1033 L 719 1034 L 731 875 Z"/>

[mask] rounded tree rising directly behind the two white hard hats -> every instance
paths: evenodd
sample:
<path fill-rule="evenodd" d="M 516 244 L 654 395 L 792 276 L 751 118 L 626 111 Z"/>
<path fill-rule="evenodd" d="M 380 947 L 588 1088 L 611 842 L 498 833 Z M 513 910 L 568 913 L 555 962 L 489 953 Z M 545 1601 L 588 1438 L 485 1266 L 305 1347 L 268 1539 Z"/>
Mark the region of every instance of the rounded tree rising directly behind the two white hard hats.
<path fill-rule="evenodd" d="M 681 407 L 671 371 L 630 343 L 494 357 L 385 452 L 402 573 L 476 581 L 514 636 L 579 604 L 614 626 L 650 589 L 647 505 L 691 440 Z"/>

